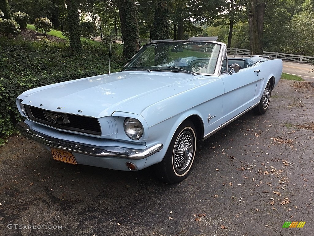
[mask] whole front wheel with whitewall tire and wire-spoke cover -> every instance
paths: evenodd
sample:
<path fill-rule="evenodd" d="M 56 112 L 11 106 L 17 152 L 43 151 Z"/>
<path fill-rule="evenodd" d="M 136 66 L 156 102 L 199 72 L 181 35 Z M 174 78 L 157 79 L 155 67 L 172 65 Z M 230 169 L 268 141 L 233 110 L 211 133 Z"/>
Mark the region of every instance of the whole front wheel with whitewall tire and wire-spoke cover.
<path fill-rule="evenodd" d="M 176 130 L 164 159 L 155 165 L 157 177 L 174 184 L 190 173 L 197 147 L 196 130 L 191 121 L 183 122 Z"/>

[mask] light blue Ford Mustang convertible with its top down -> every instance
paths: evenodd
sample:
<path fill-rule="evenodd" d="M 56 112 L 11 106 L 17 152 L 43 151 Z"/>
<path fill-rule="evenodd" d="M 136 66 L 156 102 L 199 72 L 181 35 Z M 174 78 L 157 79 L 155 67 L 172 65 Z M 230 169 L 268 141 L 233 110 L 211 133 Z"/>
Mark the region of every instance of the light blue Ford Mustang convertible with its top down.
<path fill-rule="evenodd" d="M 221 42 L 145 44 L 122 71 L 22 93 L 16 127 L 74 165 L 136 171 L 166 183 L 191 171 L 198 141 L 248 110 L 266 112 L 282 61 L 228 57 Z"/>

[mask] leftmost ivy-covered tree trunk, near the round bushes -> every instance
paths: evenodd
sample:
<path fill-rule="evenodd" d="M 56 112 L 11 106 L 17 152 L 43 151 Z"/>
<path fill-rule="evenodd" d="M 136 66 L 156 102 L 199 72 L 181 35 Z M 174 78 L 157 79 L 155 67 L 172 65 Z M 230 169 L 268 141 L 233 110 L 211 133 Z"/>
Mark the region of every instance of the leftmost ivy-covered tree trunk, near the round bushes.
<path fill-rule="evenodd" d="M 67 0 L 70 49 L 75 53 L 83 49 L 79 30 L 78 6 L 78 0 Z"/>

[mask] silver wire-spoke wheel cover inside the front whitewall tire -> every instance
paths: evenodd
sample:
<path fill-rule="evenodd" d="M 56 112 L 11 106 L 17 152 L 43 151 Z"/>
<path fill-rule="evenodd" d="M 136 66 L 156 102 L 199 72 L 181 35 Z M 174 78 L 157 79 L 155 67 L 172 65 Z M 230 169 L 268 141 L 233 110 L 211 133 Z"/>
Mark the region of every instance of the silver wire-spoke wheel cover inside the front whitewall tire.
<path fill-rule="evenodd" d="M 173 162 L 176 171 L 182 172 L 190 164 L 192 156 L 194 155 L 194 142 L 190 131 L 184 131 L 177 138 Z"/>

